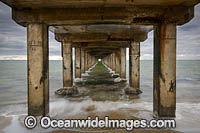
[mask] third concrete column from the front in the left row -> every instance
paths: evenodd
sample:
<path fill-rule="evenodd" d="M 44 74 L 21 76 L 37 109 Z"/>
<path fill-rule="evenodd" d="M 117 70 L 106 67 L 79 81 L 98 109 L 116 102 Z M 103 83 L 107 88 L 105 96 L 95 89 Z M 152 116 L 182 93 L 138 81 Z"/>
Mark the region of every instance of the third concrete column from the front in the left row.
<path fill-rule="evenodd" d="M 75 48 L 75 78 L 81 78 L 81 48 Z"/>

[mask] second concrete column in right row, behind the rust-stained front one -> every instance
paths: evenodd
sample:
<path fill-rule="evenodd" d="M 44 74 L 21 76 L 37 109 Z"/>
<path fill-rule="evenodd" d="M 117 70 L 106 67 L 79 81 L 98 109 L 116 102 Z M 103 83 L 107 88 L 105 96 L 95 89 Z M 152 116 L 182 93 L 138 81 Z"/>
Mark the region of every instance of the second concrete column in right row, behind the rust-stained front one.
<path fill-rule="evenodd" d="M 130 87 L 140 88 L 140 43 L 131 42 L 129 48 L 129 83 Z"/>

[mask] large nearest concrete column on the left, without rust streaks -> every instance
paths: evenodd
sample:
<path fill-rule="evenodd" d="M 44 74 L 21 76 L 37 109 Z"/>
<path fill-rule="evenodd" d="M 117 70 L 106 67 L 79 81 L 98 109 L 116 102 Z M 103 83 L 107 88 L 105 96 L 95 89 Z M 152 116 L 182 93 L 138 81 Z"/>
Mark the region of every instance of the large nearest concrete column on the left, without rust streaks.
<path fill-rule="evenodd" d="M 48 26 L 27 25 L 28 115 L 49 113 Z"/>

